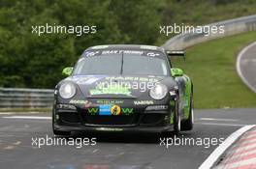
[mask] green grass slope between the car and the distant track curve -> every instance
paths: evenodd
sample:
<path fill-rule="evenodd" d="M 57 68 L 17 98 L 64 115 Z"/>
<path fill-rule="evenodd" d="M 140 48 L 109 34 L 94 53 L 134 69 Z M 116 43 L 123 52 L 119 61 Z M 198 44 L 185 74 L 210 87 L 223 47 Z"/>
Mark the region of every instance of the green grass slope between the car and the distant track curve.
<path fill-rule="evenodd" d="M 173 60 L 194 83 L 195 108 L 256 107 L 256 94 L 236 70 L 240 49 L 256 41 L 256 32 L 200 43 L 186 50 L 186 61 Z"/>

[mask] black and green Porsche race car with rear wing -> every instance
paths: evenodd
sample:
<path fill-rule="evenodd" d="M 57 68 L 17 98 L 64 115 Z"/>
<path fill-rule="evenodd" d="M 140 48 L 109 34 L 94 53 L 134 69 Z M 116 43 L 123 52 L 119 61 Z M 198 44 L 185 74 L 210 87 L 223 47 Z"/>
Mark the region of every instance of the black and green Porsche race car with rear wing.
<path fill-rule="evenodd" d="M 175 132 L 193 128 L 193 84 L 152 45 L 97 45 L 83 51 L 54 90 L 55 135 L 72 131 Z"/>

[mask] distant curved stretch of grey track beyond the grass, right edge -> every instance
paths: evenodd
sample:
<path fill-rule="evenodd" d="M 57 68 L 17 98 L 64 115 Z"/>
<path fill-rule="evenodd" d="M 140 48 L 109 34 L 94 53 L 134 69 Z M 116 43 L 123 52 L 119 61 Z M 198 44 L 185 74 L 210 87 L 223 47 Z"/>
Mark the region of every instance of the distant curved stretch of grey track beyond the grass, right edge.
<path fill-rule="evenodd" d="M 237 70 L 242 81 L 256 93 L 256 42 L 240 51 Z"/>

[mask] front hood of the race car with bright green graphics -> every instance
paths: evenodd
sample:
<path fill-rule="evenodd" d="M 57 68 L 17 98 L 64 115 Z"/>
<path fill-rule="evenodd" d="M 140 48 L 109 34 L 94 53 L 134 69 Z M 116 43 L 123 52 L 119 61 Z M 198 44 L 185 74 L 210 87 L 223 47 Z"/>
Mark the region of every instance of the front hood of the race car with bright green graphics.
<path fill-rule="evenodd" d="M 127 76 L 127 75 L 73 75 L 64 81 L 77 84 L 85 98 L 148 98 L 149 90 L 156 83 L 163 83 L 168 88 L 176 85 L 173 77 L 166 76 Z"/>

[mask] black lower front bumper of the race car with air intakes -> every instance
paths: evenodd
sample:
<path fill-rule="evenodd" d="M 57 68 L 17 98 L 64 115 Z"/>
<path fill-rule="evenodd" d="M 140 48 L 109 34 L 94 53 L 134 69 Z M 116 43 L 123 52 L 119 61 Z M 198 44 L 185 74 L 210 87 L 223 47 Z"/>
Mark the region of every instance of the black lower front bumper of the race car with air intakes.
<path fill-rule="evenodd" d="M 127 107 L 127 106 L 124 106 Z M 87 108 L 63 109 L 53 106 L 53 127 L 63 131 L 132 131 L 161 132 L 173 130 L 171 116 L 174 108 L 145 110 L 145 106 L 133 108 L 129 115 L 92 115 Z"/>

